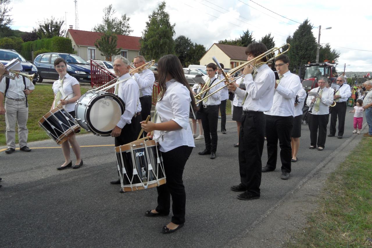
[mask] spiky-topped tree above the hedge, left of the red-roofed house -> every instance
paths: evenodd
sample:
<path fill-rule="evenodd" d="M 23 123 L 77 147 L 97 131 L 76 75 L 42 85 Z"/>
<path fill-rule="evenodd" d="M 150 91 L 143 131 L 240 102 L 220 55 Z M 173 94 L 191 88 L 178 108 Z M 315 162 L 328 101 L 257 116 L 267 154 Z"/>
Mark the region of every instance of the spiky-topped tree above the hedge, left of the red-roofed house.
<path fill-rule="evenodd" d="M 32 32 L 36 32 L 39 39 L 52 38 L 53 36 L 65 36 L 66 30 L 62 28 L 65 23 L 62 19 L 44 19 L 38 22 L 38 27 L 34 28 Z"/>

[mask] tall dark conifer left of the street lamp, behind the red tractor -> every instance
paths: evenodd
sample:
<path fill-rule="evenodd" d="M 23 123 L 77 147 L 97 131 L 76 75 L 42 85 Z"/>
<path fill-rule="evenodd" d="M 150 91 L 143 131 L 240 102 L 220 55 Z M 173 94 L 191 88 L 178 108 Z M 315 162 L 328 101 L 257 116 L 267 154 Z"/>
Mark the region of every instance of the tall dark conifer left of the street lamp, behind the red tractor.
<path fill-rule="evenodd" d="M 288 38 L 287 41 L 290 41 L 291 49 L 287 55 L 290 60 L 289 66 L 292 69 L 307 64 L 308 61 L 315 63 L 317 42 L 312 34 L 312 25 L 308 19 L 298 26 L 291 39 Z"/>

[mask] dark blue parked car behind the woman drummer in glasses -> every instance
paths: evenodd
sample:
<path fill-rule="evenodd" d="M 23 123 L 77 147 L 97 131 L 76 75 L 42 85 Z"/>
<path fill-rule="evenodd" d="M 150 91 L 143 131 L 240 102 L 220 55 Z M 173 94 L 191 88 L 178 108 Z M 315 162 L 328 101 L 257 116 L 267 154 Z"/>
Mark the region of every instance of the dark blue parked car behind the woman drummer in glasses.
<path fill-rule="evenodd" d="M 54 69 L 54 60 L 63 58 L 67 63 L 67 73 L 75 77 L 79 82 L 90 82 L 90 64 L 75 54 L 68 53 L 43 53 L 39 54 L 33 64 L 38 69 L 39 80 L 58 79 L 58 73 Z"/>

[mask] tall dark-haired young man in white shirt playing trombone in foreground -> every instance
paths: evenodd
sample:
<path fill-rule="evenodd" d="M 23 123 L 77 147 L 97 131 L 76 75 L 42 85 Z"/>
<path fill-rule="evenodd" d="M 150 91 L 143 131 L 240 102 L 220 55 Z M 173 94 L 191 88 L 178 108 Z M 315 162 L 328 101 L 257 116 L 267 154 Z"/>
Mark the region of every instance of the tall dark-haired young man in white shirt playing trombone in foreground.
<path fill-rule="evenodd" d="M 249 44 L 246 48 L 250 61 L 267 51 L 263 43 Z M 266 62 L 266 58 L 257 61 Z M 228 89 L 243 98 L 243 115 L 239 133 L 239 174 L 240 184 L 231 186 L 232 191 L 244 191 L 238 195 L 240 200 L 260 198 L 261 156 L 263 151 L 265 117 L 273 104 L 275 74 L 267 64 L 259 66 L 252 76 L 253 67 L 243 70 L 246 90 L 231 84 Z"/>

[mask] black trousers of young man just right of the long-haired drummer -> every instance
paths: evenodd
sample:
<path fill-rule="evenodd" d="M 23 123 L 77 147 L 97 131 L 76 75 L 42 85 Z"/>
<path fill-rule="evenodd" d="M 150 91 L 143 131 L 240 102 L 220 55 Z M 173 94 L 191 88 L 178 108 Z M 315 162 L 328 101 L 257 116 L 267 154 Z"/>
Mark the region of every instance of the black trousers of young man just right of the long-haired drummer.
<path fill-rule="evenodd" d="M 218 105 L 206 106 L 206 108 L 201 105 L 199 111 L 202 117 L 205 149 L 211 152 L 216 152 L 218 139 Z"/>

